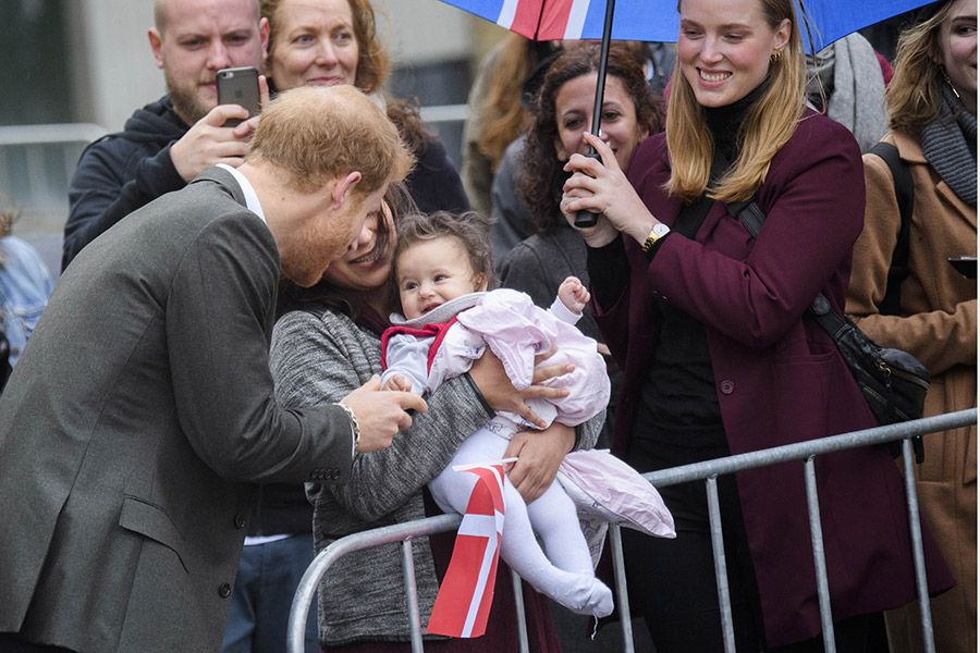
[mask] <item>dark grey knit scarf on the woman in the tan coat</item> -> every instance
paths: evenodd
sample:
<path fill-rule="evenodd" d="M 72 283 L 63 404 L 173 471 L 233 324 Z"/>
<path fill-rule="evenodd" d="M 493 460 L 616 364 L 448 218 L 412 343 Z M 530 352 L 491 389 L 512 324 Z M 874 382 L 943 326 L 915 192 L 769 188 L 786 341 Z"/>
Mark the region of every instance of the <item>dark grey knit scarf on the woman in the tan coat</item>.
<path fill-rule="evenodd" d="M 922 127 L 922 153 L 959 199 L 977 206 L 977 114 L 947 85 L 940 114 Z"/>

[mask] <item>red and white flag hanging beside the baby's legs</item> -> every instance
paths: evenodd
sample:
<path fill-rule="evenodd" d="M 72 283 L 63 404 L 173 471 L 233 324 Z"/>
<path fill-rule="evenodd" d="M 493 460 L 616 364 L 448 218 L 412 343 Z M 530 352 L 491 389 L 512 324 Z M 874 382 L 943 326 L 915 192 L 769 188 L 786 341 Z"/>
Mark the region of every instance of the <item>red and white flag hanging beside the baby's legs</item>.
<path fill-rule="evenodd" d="M 480 637 L 487 631 L 497 562 L 503 533 L 503 465 L 456 468 L 478 480 L 453 544 L 453 557 L 436 596 L 428 632 L 448 637 Z"/>

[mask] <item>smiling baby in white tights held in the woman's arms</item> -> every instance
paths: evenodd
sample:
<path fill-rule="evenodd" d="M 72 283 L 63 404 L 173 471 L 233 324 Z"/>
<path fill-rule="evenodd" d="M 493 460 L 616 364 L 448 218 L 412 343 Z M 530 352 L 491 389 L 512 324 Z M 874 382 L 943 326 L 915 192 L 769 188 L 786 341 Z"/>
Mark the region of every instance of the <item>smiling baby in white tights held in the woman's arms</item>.
<path fill-rule="evenodd" d="M 476 213 L 406 215 L 399 224 L 394 274 L 402 316 L 381 338 L 385 390 L 431 393 L 442 381 L 466 372 L 489 346 L 518 390 L 531 384 L 535 355 L 556 352 L 544 362 L 573 364 L 551 380 L 566 397 L 531 399 L 547 423 L 577 426 L 609 403 L 609 377 L 596 341 L 574 322 L 589 299 L 575 278 L 566 279 L 549 311 L 511 289 L 485 292 L 492 278 L 487 224 Z M 445 512 L 464 514 L 476 477 L 453 466 L 494 463 L 518 430 L 539 428 L 520 416 L 499 412 L 467 436 L 452 463 L 429 483 Z M 530 504 L 505 481 L 501 556 L 538 591 L 578 614 L 602 617 L 613 609 L 612 592 L 596 578 L 575 504 L 558 482 Z M 541 538 L 543 551 L 535 535 Z M 547 555 L 546 555 L 547 552 Z"/>

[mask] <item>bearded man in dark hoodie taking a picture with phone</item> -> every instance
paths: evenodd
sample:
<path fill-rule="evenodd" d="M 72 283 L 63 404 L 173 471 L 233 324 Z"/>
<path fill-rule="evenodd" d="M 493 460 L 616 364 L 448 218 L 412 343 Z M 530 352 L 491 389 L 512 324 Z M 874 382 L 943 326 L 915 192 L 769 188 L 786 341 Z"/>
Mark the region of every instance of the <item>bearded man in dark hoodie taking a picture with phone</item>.
<path fill-rule="evenodd" d="M 222 126 L 248 113 L 218 106 L 216 85 L 221 69 L 261 70 L 269 24 L 258 0 L 156 0 L 154 22 L 149 44 L 168 94 L 83 152 L 69 187 L 62 270 L 102 232 L 206 168 L 238 167 L 258 123 Z"/>

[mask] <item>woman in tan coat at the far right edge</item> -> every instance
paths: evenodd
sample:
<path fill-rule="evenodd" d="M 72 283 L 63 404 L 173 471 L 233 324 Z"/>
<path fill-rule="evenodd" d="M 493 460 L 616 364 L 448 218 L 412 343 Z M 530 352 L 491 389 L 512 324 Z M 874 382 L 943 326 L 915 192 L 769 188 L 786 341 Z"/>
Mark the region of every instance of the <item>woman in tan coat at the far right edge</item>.
<path fill-rule="evenodd" d="M 887 91 L 891 132 L 915 186 L 908 276 L 897 315 L 882 315 L 899 209 L 885 162 L 865 155 L 865 231 L 847 311 L 883 346 L 932 373 L 926 414 L 977 405 L 977 286 L 947 261 L 977 254 L 977 4 L 931 5 L 903 33 Z M 976 268 L 973 268 L 976 276 Z M 939 651 L 977 651 L 977 429 L 927 435 L 919 501 L 958 586 L 932 600 Z M 921 651 L 918 616 L 887 615 L 892 651 Z"/>

